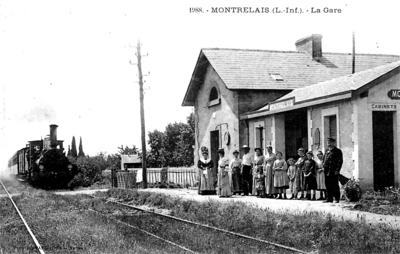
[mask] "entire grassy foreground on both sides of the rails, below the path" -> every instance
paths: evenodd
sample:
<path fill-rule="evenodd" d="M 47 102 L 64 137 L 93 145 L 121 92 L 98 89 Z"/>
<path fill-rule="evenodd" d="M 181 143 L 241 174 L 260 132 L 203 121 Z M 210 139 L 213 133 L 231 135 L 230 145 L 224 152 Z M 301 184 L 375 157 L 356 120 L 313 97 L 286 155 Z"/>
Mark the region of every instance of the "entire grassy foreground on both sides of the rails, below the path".
<path fill-rule="evenodd" d="M 370 225 L 322 212 L 274 213 L 242 202 L 198 202 L 162 193 L 110 189 L 97 195 L 135 205 L 168 209 L 173 216 L 320 253 L 398 253 L 400 230 Z M 32 189 L 14 197 L 46 253 L 175 253 L 181 249 L 118 225 L 91 208 L 145 227 L 157 235 L 205 253 L 282 252 L 182 222 L 138 214 L 121 206 L 81 196 L 58 196 Z M 0 246 L 4 253 L 31 253 L 35 247 L 6 198 L 0 199 Z M 183 251 L 184 252 L 184 251 Z M 284 252 L 284 251 L 283 251 Z"/>

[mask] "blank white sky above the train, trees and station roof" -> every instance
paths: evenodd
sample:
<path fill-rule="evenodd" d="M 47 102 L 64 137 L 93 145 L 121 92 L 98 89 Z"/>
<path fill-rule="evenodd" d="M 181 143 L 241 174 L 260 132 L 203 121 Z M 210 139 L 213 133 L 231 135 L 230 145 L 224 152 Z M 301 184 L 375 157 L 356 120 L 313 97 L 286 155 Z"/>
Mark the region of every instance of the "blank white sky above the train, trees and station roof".
<path fill-rule="evenodd" d="M 137 39 L 146 133 L 185 122 L 181 103 L 201 48 L 295 50 L 322 34 L 323 52 L 400 54 L 397 1 L 0 0 L 0 165 L 49 134 L 83 151 L 141 148 Z M 190 12 L 191 7 L 202 12 Z M 215 13 L 251 7 L 268 12 Z M 297 13 L 280 12 L 286 7 Z M 340 9 L 325 13 L 323 8 Z M 313 9 L 311 9 L 313 8 Z M 301 13 L 299 10 L 301 9 Z M 318 12 L 312 12 L 312 10 Z M 249 10 L 249 9 L 248 9 Z"/>

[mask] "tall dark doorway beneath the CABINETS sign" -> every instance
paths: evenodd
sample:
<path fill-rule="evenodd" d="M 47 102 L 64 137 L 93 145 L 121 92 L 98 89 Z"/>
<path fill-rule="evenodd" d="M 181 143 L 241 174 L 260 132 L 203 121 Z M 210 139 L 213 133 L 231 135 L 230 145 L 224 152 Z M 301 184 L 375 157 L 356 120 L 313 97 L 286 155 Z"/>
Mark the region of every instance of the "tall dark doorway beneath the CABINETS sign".
<path fill-rule="evenodd" d="M 394 185 L 394 111 L 372 111 L 373 189 Z"/>

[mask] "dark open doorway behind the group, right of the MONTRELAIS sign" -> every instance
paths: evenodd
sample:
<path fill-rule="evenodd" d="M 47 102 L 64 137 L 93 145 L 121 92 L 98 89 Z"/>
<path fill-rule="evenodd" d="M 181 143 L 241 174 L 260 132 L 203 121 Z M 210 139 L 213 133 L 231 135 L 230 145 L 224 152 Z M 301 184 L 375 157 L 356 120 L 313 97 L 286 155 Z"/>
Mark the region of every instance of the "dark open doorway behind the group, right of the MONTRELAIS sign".
<path fill-rule="evenodd" d="M 300 108 L 284 113 L 285 159 L 297 159 L 297 149 L 308 149 L 307 109 Z"/>

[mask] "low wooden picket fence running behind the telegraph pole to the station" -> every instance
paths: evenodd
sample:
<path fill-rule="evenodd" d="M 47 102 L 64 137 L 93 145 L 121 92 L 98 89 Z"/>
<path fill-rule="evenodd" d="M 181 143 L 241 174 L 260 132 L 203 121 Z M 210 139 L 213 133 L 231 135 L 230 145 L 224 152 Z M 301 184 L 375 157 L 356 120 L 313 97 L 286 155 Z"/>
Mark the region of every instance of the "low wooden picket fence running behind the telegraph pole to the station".
<path fill-rule="evenodd" d="M 116 170 L 116 183 L 119 188 L 142 188 L 142 182 L 136 182 L 138 169 Z M 196 184 L 196 169 L 194 167 L 178 168 L 147 168 L 147 183 L 158 182 L 180 184 L 181 187 L 193 187 Z"/>

